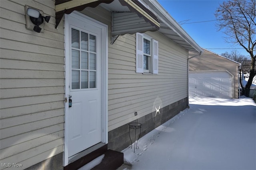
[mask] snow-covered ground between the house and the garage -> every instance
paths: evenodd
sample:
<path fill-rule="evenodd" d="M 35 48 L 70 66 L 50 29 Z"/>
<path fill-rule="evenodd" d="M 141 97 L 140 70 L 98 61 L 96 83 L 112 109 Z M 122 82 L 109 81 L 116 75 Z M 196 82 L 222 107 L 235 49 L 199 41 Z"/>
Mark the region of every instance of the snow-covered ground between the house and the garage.
<path fill-rule="evenodd" d="M 190 98 L 185 109 L 126 148 L 132 170 L 256 170 L 256 104 Z"/>

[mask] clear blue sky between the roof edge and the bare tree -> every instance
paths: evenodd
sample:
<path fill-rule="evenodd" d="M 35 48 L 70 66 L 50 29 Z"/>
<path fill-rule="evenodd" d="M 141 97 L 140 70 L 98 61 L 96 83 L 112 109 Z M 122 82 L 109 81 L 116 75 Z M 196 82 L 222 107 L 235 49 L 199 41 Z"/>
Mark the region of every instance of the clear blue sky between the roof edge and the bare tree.
<path fill-rule="evenodd" d="M 217 30 L 216 21 L 210 21 L 216 20 L 214 13 L 223 0 L 158 0 L 158 2 L 201 47 L 217 54 L 226 51 L 230 53 L 232 51 L 230 48 L 242 48 L 240 45 L 234 46 L 225 42 L 223 38 L 225 34 Z M 245 49 L 237 49 L 237 51 L 248 56 Z"/>

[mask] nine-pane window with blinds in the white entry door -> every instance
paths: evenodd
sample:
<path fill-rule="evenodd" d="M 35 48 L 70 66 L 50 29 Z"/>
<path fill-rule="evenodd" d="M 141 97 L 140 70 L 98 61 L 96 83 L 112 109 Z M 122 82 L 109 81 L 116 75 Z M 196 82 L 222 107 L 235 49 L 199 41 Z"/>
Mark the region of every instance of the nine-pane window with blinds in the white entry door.
<path fill-rule="evenodd" d="M 71 89 L 96 88 L 96 36 L 71 30 Z"/>

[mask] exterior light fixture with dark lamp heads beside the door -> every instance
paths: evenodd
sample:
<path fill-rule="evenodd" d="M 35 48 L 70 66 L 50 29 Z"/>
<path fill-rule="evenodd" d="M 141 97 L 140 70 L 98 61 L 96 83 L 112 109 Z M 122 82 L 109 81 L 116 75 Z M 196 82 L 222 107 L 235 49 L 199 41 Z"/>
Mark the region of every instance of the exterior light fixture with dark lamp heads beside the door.
<path fill-rule="evenodd" d="M 48 23 L 51 18 L 50 16 L 42 16 L 38 10 L 33 8 L 27 9 L 27 15 L 30 16 L 31 22 L 35 24 L 33 30 L 38 33 L 42 30 L 39 26 L 44 22 L 44 20 Z"/>

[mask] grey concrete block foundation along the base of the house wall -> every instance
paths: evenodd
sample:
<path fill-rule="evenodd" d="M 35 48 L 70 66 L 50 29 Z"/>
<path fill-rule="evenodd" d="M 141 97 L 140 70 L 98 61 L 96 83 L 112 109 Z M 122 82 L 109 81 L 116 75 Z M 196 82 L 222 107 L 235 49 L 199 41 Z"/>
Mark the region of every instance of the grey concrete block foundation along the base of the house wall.
<path fill-rule="evenodd" d="M 136 119 L 135 121 L 130 122 L 130 123 L 134 123 L 134 122 L 142 123 L 141 134 L 139 129 L 137 129 L 136 131 L 136 140 L 138 139 L 139 134 L 141 138 L 142 136 L 144 136 L 154 128 L 172 119 L 172 117 L 180 113 L 180 111 L 183 111 L 184 109 L 186 109 L 187 106 L 188 106 L 187 98 L 184 98 L 180 101 L 177 101 L 166 107 L 161 108 L 159 110 L 160 114 L 159 113 L 156 114 L 156 111 L 154 111 L 144 117 L 140 117 L 139 119 Z M 108 148 L 109 149 L 121 151 L 124 148 L 130 146 L 131 140 L 129 137 L 128 124 L 129 123 L 108 132 Z M 132 142 L 134 142 L 134 133 L 135 133 L 134 129 L 130 130 L 130 136 L 132 138 Z"/>

